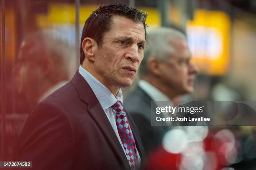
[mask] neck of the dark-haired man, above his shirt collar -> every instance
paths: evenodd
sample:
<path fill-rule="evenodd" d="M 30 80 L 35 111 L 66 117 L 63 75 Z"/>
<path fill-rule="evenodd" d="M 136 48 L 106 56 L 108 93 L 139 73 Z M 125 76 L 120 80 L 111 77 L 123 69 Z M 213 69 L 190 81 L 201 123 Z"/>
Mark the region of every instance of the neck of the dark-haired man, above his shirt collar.
<path fill-rule="evenodd" d="M 95 77 L 99 82 L 102 83 L 102 85 L 104 85 L 105 87 L 108 88 L 108 90 L 110 90 L 110 92 L 116 96 L 118 93 L 118 90 L 120 89 L 120 87 L 117 86 L 113 86 L 108 84 L 96 71 L 93 67 L 90 67 L 89 64 L 83 64 L 82 67 L 87 70 L 88 72 L 90 72 L 90 74 Z"/>

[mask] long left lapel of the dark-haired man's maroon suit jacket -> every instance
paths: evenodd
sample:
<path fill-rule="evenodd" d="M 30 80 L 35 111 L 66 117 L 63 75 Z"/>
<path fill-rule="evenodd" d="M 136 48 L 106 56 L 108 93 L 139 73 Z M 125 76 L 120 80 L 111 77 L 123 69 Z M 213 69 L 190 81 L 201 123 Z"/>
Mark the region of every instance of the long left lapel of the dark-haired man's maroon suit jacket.
<path fill-rule="evenodd" d="M 126 155 L 123 152 L 123 148 L 120 145 L 117 136 L 115 135 L 115 131 L 113 130 L 107 115 L 102 109 L 100 102 L 98 101 L 91 87 L 88 85 L 88 83 L 84 80 L 84 78 L 82 77 L 82 75 L 80 75 L 78 71 L 71 80 L 71 82 L 76 87 L 81 100 L 88 103 L 88 111 L 90 115 L 97 123 L 98 127 L 102 131 L 102 134 L 108 140 L 110 147 L 113 148 L 114 152 L 117 154 L 122 165 L 125 166 L 125 169 L 131 169 Z"/>

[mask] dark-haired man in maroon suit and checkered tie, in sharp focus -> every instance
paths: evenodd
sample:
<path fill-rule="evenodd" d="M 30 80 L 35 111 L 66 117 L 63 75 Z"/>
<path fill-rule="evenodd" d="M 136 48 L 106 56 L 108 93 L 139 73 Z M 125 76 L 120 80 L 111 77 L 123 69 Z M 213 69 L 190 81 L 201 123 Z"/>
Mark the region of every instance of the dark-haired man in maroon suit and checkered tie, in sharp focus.
<path fill-rule="evenodd" d="M 138 169 L 143 146 L 123 108 L 143 59 L 146 13 L 104 5 L 85 22 L 79 70 L 40 102 L 20 137 L 21 159 L 35 170 Z"/>

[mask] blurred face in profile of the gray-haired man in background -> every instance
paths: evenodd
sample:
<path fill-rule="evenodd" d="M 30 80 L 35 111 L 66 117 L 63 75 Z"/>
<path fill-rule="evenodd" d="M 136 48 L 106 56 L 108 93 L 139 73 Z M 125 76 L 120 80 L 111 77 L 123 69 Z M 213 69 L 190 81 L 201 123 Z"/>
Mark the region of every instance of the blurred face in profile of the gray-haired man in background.
<path fill-rule="evenodd" d="M 170 43 L 174 47 L 174 53 L 166 62 L 161 63 L 161 80 L 176 95 L 191 93 L 194 91 L 195 74 L 198 70 L 190 61 L 187 41 L 180 39 Z"/>

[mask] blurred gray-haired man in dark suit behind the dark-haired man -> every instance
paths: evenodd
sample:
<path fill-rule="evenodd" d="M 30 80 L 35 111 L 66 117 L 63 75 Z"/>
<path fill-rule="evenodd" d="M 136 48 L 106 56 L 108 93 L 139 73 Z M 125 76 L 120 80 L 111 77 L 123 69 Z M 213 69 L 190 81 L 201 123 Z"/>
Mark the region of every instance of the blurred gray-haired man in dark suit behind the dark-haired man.
<path fill-rule="evenodd" d="M 190 59 L 187 38 L 181 31 L 159 28 L 148 34 L 140 67 L 141 80 L 124 101 L 147 154 L 161 145 L 164 134 L 169 130 L 168 124 L 151 126 L 151 101 L 153 107 L 163 107 L 154 101 L 169 101 L 172 105 L 174 97 L 194 90 L 197 67 Z"/>

